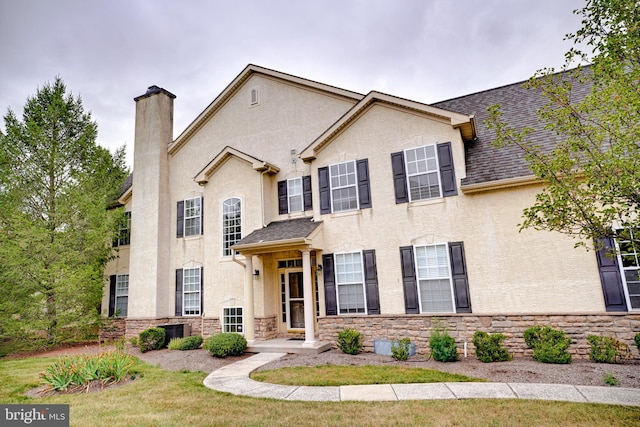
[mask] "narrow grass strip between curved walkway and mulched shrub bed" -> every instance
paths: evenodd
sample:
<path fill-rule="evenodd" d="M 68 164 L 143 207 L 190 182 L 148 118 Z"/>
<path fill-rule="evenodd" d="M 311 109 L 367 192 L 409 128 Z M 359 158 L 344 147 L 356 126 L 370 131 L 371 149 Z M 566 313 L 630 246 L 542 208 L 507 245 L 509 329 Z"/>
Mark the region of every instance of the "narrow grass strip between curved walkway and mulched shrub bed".
<path fill-rule="evenodd" d="M 409 384 L 484 381 L 464 375 L 449 374 L 434 369 L 407 368 L 402 366 L 339 366 L 265 370 L 251 375 L 256 381 L 285 385 L 341 386 L 361 384 Z"/>

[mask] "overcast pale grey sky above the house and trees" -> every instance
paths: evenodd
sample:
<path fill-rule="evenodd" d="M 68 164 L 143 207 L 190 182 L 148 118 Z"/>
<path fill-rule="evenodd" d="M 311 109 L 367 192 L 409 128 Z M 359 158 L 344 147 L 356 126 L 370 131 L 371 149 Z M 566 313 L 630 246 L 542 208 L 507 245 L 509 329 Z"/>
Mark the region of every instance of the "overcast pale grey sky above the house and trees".
<path fill-rule="evenodd" d="M 560 68 L 584 0 L 0 0 L 0 115 L 60 76 L 126 144 L 133 98 L 174 93 L 174 138 L 247 64 L 432 103 Z M 4 120 L 0 124 L 4 129 Z"/>

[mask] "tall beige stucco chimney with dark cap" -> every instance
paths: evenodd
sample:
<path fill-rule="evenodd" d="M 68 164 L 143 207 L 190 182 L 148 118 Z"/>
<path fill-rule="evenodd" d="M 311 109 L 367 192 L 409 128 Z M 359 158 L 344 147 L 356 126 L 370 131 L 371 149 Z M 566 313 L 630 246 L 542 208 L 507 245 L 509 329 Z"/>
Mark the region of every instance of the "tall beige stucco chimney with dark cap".
<path fill-rule="evenodd" d="M 150 86 L 136 102 L 131 245 L 129 256 L 129 318 L 171 315 L 168 147 L 173 141 L 175 95 Z"/>

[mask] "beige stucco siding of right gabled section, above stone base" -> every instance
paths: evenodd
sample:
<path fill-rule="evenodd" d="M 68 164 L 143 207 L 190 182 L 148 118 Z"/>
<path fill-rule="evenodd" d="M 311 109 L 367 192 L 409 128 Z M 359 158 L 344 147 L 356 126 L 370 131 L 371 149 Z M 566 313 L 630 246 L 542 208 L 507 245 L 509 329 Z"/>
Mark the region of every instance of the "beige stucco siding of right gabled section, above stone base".
<path fill-rule="evenodd" d="M 549 232 L 518 231 L 522 209 L 540 188 L 458 195 L 395 203 L 392 152 L 451 141 L 458 183 L 464 177 L 463 143 L 450 125 L 374 106 L 315 160 L 317 168 L 367 158 L 372 208 L 320 215 L 325 253 L 376 250 L 383 314 L 404 313 L 401 246 L 463 241 L 475 313 L 597 312 L 604 309 L 593 253 Z M 314 193 L 314 205 L 319 196 Z"/>

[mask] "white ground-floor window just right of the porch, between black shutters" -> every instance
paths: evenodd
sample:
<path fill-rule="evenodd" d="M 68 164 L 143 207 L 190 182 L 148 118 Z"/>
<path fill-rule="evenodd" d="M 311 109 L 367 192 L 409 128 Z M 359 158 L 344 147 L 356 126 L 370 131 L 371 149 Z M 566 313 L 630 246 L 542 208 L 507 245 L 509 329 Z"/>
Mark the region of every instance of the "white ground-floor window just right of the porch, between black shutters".
<path fill-rule="evenodd" d="M 362 253 L 335 254 L 338 313 L 366 313 Z"/>

